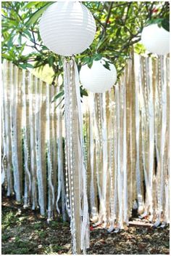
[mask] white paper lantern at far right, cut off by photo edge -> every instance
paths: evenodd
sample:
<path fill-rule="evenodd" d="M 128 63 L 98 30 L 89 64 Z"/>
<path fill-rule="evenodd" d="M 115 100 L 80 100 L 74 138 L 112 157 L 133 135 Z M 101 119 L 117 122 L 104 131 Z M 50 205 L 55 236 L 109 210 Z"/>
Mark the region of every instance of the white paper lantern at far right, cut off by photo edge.
<path fill-rule="evenodd" d="M 143 28 L 141 41 L 149 52 L 167 55 L 170 52 L 170 33 L 157 24 Z"/>

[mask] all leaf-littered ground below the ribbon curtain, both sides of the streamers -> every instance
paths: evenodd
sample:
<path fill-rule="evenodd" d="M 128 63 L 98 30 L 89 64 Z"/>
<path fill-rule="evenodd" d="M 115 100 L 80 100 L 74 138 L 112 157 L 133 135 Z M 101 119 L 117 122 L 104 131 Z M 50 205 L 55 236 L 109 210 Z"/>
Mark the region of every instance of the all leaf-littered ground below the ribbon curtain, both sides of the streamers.
<path fill-rule="evenodd" d="M 89 255 L 169 255 L 169 226 L 131 226 L 120 233 L 91 227 Z M 46 222 L 38 212 L 2 198 L 2 254 L 71 254 L 70 225 L 61 219 Z"/>

